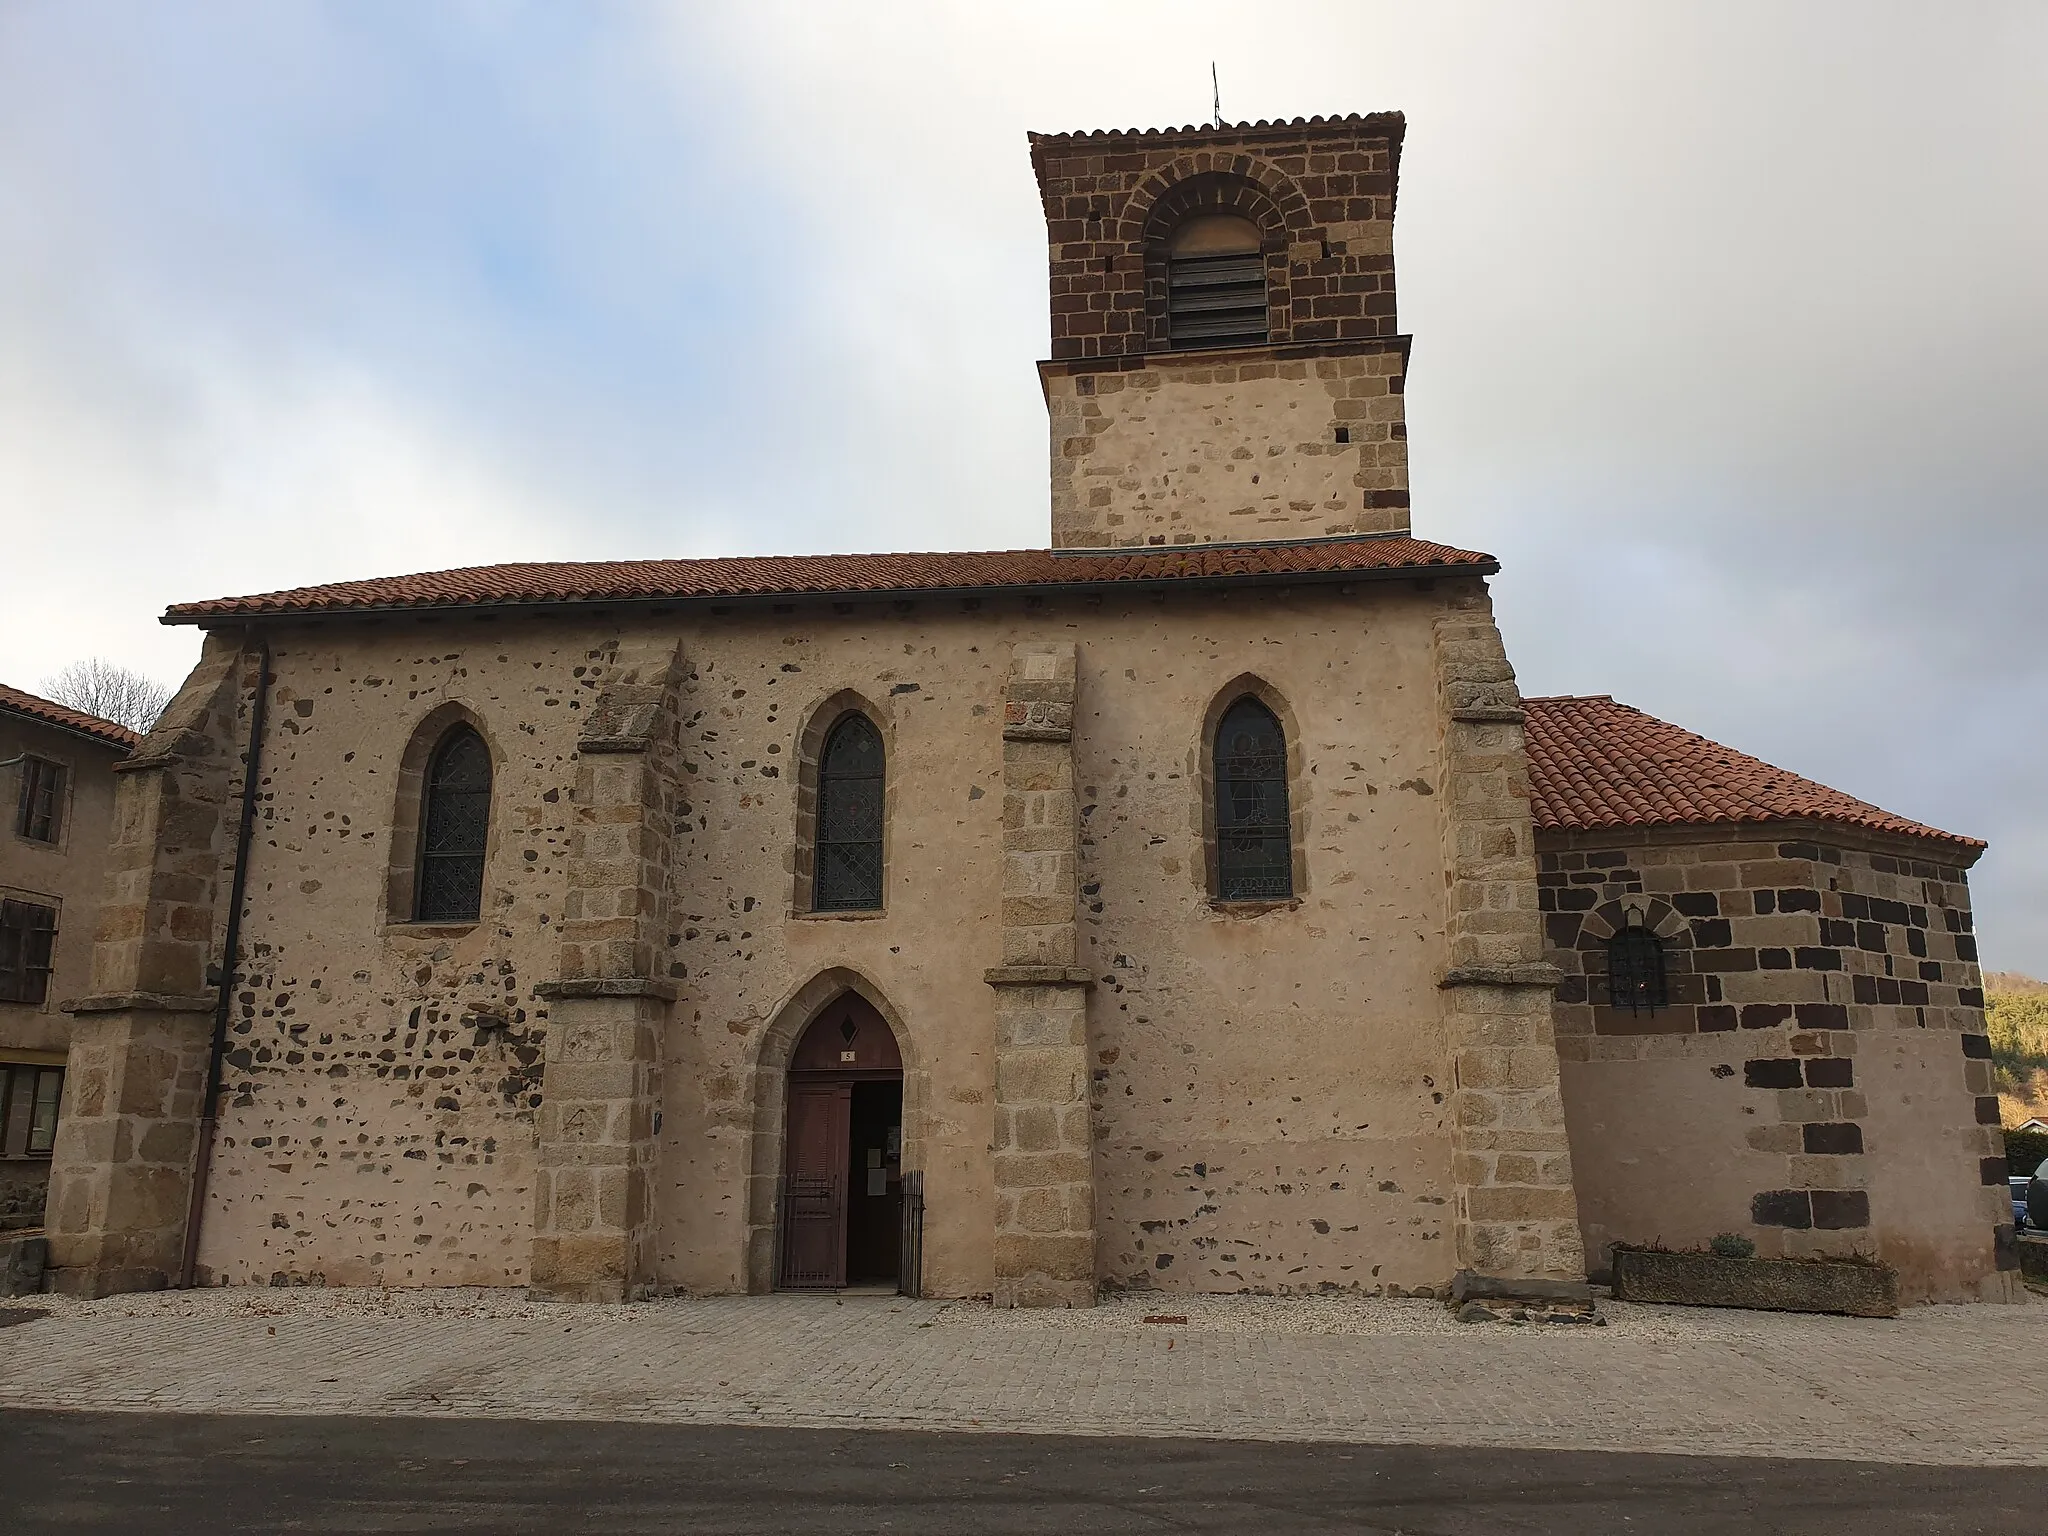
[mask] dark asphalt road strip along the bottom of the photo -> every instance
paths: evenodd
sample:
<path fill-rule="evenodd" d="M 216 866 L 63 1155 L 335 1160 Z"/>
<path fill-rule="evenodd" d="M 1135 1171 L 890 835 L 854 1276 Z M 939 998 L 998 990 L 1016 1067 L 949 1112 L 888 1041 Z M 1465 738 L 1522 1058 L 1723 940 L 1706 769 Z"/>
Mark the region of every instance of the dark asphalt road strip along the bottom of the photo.
<path fill-rule="evenodd" d="M 502 1419 L 0 1413 L 8 1532 L 2028 1532 L 2048 1470 Z"/>

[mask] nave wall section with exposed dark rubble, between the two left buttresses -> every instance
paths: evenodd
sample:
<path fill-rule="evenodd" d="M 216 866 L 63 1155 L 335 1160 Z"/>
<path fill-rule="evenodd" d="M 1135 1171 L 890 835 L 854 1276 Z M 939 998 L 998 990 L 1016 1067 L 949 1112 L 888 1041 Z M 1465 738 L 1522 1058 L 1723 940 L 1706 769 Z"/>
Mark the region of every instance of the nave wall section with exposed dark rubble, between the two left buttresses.
<path fill-rule="evenodd" d="M 262 801 L 199 1245 L 213 1284 L 524 1284 L 578 741 L 616 641 L 463 625 L 272 635 Z M 475 924 L 393 907 L 408 768 L 492 750 Z M 428 743 L 430 748 L 430 743 Z"/>

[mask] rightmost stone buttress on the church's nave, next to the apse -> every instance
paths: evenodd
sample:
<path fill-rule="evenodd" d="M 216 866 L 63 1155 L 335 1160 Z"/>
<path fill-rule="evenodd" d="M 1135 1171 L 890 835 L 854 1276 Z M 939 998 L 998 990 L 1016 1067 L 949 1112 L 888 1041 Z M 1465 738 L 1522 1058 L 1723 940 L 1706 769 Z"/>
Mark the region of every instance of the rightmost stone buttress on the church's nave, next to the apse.
<path fill-rule="evenodd" d="M 1522 694 L 1485 588 L 1436 621 L 1444 705 L 1452 1182 L 1466 1294 L 1583 1296 Z"/>

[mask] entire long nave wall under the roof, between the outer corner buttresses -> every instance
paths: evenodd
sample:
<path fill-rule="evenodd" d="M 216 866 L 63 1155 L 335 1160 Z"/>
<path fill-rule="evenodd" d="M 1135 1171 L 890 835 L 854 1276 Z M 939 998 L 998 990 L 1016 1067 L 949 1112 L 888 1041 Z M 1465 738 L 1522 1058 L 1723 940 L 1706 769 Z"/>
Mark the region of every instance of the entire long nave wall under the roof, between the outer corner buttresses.
<path fill-rule="evenodd" d="M 1034 1192 L 1059 1184 L 1044 1231 L 1077 1235 L 1065 1186 L 1092 1196 L 1098 1278 L 1114 1284 L 1446 1286 L 1454 1063 L 1430 657 L 1454 586 L 1477 588 L 276 629 L 203 1276 L 766 1284 L 778 1073 L 819 987 L 852 985 L 903 1049 L 928 1292 L 997 1290 L 997 1108 L 1016 1143 L 1040 1137 L 1047 1108 L 1061 1139 L 1075 1130 L 1036 1094 L 1042 1073 L 1026 1098 L 999 1087 L 1001 1053 L 1083 1044 L 1092 1180 L 1014 1184 L 1020 1233 L 1038 1233 Z M 633 735 L 592 721 L 655 641 L 684 657 L 655 711 L 672 725 L 649 725 L 645 752 L 594 754 Z M 1008 707 L 1030 702 L 1014 662 L 1059 647 L 1071 745 L 1006 741 Z M 1208 899 L 1198 805 L 1202 723 L 1245 678 L 1286 705 L 1300 756 L 1305 889 L 1262 911 Z M 793 760 L 848 694 L 872 702 L 889 750 L 885 909 L 819 915 L 797 901 Z M 387 905 L 399 780 L 451 705 L 496 764 L 485 905 L 477 924 L 420 926 Z M 1061 799 L 1042 764 L 1010 758 L 1040 750 L 1071 750 L 1077 862 L 1049 879 L 1073 883 L 1073 969 L 1094 987 L 1020 987 L 1032 1006 L 1006 1034 L 1006 989 L 985 975 L 1018 961 L 1010 928 L 1036 926 L 1016 903 L 1049 899 L 1032 862 L 1049 850 L 1020 844 L 1030 868 L 1006 911 L 1006 815 Z M 1090 997 L 1085 1016 L 1061 1012 L 1063 1042 L 1028 997 L 1040 985 Z M 555 1126 L 545 1075 L 580 1063 L 557 1038 L 578 1010 L 608 1022 Z M 567 1124 L 578 1102 L 590 1137 Z M 627 1165 L 643 1171 L 616 1198 L 602 1178 L 567 1204 L 539 1182 Z M 543 1270 L 545 1239 L 565 1233 L 598 1255 L 569 1284 Z M 1018 1298 L 1047 1298 L 1036 1284 Z"/>

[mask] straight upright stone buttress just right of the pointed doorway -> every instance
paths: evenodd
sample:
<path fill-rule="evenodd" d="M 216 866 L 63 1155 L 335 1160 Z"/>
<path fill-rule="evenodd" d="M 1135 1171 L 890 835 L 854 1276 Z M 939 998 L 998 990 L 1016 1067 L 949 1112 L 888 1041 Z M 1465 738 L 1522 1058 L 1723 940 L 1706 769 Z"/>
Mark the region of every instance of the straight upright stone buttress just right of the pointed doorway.
<path fill-rule="evenodd" d="M 995 989 L 995 1305 L 1092 1307 L 1096 1188 L 1071 643 L 1018 643 L 1004 688 L 1001 965 Z"/>

